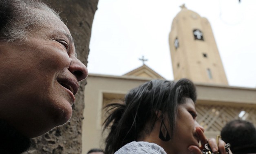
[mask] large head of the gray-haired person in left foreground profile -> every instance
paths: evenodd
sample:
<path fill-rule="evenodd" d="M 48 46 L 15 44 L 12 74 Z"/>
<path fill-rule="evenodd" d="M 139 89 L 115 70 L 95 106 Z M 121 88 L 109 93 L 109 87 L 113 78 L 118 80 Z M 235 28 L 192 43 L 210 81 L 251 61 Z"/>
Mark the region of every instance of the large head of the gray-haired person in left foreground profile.
<path fill-rule="evenodd" d="M 28 138 L 66 123 L 87 75 L 55 11 L 38 0 L 0 0 L 0 119 Z"/>

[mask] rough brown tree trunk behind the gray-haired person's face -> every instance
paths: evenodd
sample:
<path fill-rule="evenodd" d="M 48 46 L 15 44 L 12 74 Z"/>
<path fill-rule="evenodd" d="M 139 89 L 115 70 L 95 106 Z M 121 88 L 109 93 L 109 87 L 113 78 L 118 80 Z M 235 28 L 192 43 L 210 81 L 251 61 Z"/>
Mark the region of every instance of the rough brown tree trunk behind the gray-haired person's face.
<path fill-rule="evenodd" d="M 77 57 L 87 66 L 91 28 L 98 0 L 43 0 L 60 13 L 74 37 Z M 35 145 L 26 154 L 81 154 L 84 86 L 80 83 L 70 121 L 33 139 Z"/>

